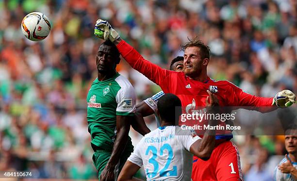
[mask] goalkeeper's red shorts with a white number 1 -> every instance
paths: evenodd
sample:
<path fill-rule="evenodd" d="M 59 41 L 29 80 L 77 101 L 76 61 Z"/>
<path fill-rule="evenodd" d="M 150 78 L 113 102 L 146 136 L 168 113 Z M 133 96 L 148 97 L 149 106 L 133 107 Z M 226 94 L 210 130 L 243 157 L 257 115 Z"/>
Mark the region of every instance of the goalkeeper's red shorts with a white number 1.
<path fill-rule="evenodd" d="M 194 156 L 193 181 L 226 181 L 230 178 L 243 181 L 238 149 L 231 141 L 217 145 L 208 161 Z"/>

